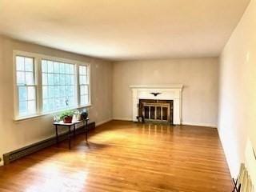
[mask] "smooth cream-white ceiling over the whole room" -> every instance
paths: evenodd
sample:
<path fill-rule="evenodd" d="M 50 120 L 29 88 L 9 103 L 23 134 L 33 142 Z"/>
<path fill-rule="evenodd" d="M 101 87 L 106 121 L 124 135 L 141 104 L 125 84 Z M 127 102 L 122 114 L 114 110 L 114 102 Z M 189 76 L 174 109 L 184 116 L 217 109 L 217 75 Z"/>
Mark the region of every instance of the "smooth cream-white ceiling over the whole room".
<path fill-rule="evenodd" d="M 111 60 L 218 56 L 250 0 L 0 0 L 0 33 Z"/>

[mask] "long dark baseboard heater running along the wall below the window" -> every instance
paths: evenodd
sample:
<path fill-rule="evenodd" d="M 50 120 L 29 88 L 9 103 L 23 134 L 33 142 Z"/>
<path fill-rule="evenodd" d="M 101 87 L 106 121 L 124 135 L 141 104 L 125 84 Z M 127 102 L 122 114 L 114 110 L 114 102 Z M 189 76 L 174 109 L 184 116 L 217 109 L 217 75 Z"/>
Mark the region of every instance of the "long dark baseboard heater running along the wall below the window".
<path fill-rule="evenodd" d="M 95 122 L 90 122 L 88 124 L 88 130 L 90 131 L 90 130 L 93 130 L 94 128 L 95 128 Z M 84 134 L 85 127 L 80 126 L 78 129 L 76 129 L 75 133 L 76 133 L 76 135 Z M 73 136 L 73 134 L 71 136 Z M 59 134 L 58 141 L 61 142 L 61 141 L 65 140 L 67 137 L 68 137 L 68 133 Z M 22 158 L 28 154 L 33 154 L 34 152 L 37 152 L 38 150 L 42 150 L 42 149 L 44 149 L 48 146 L 52 146 L 54 144 L 56 144 L 56 138 L 51 137 L 51 138 L 47 138 L 41 142 L 36 142 L 34 144 L 31 144 L 30 146 L 25 146 L 18 150 L 11 151 L 10 153 L 3 154 L 4 165 L 7 165 L 10 162 L 14 162 L 18 158 Z"/>

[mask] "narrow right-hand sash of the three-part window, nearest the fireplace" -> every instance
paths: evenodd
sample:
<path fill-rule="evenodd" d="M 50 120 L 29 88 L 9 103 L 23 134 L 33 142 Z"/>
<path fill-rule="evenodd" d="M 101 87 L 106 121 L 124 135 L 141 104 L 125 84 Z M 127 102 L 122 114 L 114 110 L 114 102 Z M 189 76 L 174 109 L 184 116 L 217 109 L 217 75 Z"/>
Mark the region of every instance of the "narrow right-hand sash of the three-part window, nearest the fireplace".
<path fill-rule="evenodd" d="M 80 102 L 82 105 L 89 103 L 89 79 L 87 66 L 79 66 Z"/>

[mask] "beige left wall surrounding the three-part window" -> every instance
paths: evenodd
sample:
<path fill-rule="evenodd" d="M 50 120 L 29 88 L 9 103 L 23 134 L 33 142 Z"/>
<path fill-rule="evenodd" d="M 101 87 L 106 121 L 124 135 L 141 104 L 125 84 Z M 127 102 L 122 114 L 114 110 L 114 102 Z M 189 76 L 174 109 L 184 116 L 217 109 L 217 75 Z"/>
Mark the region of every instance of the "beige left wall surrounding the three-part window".
<path fill-rule="evenodd" d="M 53 118 L 46 116 L 14 122 L 13 50 L 46 54 L 91 64 L 92 107 L 90 119 L 96 123 L 112 118 L 112 63 L 87 58 L 44 46 L 18 42 L 0 36 L 0 157 L 10 150 L 49 138 L 54 134 Z"/>

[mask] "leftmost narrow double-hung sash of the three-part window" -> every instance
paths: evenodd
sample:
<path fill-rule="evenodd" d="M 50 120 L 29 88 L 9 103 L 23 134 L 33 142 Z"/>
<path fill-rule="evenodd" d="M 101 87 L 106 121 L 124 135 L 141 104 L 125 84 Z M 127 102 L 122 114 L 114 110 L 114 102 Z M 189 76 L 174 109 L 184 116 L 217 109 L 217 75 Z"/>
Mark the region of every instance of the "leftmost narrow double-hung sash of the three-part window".
<path fill-rule="evenodd" d="M 36 85 L 34 76 L 34 58 L 17 56 L 16 86 L 19 116 L 36 114 Z"/>

